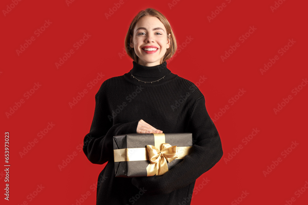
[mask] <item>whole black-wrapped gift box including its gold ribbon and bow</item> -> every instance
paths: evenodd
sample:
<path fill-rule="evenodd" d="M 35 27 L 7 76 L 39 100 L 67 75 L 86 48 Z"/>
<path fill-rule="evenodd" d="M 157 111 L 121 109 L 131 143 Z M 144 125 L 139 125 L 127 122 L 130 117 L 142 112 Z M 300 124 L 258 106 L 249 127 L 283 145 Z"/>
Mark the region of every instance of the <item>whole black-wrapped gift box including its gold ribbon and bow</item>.
<path fill-rule="evenodd" d="M 192 133 L 114 136 L 115 177 L 163 175 L 192 151 Z"/>

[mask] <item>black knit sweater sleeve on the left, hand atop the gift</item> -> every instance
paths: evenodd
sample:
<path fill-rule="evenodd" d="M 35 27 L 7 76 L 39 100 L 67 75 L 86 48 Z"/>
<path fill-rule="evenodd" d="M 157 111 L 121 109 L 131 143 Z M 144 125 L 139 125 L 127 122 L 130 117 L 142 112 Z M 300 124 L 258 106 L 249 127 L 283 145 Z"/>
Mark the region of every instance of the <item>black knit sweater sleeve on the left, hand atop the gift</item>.
<path fill-rule="evenodd" d="M 140 119 L 139 119 L 140 120 Z M 137 133 L 139 120 L 112 125 L 107 98 L 102 89 L 95 95 L 90 132 L 83 139 L 83 152 L 93 164 L 104 164 L 113 156 L 113 136 Z"/>

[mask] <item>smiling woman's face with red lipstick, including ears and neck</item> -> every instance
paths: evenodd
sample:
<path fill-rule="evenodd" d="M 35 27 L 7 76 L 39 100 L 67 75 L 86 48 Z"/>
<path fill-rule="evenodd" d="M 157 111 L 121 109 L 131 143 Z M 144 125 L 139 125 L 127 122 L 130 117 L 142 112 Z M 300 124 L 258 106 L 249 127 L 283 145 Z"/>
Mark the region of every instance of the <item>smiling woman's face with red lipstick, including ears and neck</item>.
<path fill-rule="evenodd" d="M 170 36 L 171 34 L 169 34 Z M 156 17 L 144 16 L 136 23 L 130 47 L 139 57 L 138 64 L 154 66 L 170 48 L 170 40 L 164 24 Z"/>

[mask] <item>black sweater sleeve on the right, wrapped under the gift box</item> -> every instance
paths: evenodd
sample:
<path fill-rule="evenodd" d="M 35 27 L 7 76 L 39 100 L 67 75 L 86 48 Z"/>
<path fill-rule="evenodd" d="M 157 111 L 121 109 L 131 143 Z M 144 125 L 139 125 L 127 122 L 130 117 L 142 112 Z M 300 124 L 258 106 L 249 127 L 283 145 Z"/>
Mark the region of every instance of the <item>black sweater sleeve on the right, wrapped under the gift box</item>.
<path fill-rule="evenodd" d="M 164 175 L 132 178 L 136 187 L 144 187 L 148 195 L 168 194 L 195 182 L 221 159 L 221 140 L 206 111 L 203 95 L 193 105 L 188 126 L 193 134 L 193 152 Z"/>

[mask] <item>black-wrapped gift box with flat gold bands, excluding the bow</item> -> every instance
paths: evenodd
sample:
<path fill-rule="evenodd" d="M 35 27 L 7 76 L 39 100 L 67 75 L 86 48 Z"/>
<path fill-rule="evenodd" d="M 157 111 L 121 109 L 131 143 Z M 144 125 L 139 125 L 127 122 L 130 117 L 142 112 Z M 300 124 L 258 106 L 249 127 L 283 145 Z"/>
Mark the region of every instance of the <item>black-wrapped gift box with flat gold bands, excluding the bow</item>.
<path fill-rule="evenodd" d="M 178 151 L 177 158 L 171 162 L 167 161 L 168 170 L 184 160 L 184 156 L 193 151 L 192 133 L 138 133 L 114 136 L 115 177 L 148 176 L 147 167 L 151 162 L 149 161 L 147 145 L 153 145 L 160 151 L 162 143 L 176 146 Z"/>

